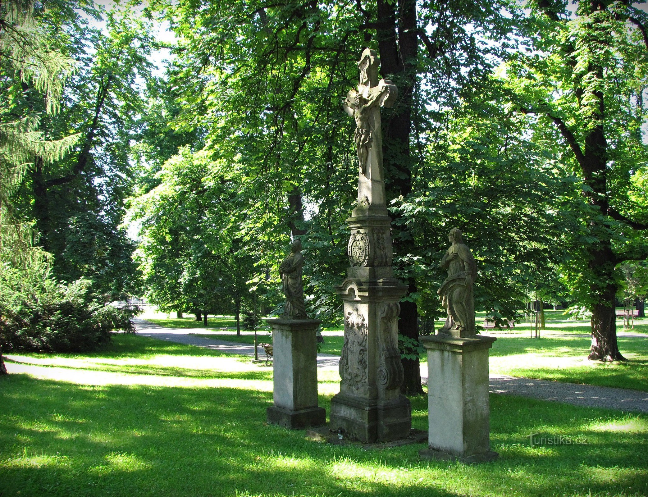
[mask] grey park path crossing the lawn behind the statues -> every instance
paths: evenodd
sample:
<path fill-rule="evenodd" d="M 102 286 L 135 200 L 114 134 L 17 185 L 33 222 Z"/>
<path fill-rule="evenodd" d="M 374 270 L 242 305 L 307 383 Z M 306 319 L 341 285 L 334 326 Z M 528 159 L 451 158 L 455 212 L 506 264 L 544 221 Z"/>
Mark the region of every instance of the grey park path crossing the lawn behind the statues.
<path fill-rule="evenodd" d="M 197 345 L 205 349 L 214 349 L 232 354 L 245 354 L 254 356 L 254 346 L 247 343 L 235 343 L 226 340 L 202 338 L 191 336 L 190 333 L 210 334 L 203 328 L 171 329 L 150 323 L 145 319 L 133 319 L 137 333 L 143 336 L 158 338 L 159 340 L 176 341 Z M 639 335 L 638 338 L 645 338 Z M 260 349 L 260 356 L 264 356 Z M 318 367 L 338 367 L 340 356 L 318 354 Z M 421 365 L 421 380 L 428 382 L 428 369 L 426 364 Z M 519 395 L 538 400 L 566 402 L 574 406 L 619 409 L 623 411 L 641 411 L 648 413 L 648 392 L 628 390 L 623 388 L 599 387 L 594 385 L 580 385 L 575 383 L 554 382 L 551 380 L 534 380 L 532 378 L 516 378 L 515 376 L 491 375 L 491 393 L 505 395 Z"/>

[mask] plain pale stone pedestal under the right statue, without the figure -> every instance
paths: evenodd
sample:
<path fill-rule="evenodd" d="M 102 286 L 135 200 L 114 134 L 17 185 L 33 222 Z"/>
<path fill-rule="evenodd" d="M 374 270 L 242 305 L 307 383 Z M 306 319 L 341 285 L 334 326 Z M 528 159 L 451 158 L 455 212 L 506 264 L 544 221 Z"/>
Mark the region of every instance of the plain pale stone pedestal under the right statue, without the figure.
<path fill-rule="evenodd" d="M 489 445 L 488 349 L 497 340 L 475 335 L 424 336 L 428 351 L 428 443 L 421 457 L 492 461 Z"/>

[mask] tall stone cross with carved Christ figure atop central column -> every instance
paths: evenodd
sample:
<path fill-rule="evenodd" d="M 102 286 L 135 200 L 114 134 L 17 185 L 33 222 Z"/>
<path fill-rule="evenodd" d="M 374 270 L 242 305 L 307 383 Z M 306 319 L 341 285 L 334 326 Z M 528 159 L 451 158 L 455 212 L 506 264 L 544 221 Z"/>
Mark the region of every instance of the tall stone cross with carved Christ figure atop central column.
<path fill-rule="evenodd" d="M 351 89 L 343 107 L 356 121 L 354 141 L 358 151 L 358 205 L 386 205 L 382 172 L 382 133 L 380 108 L 391 107 L 399 95 L 389 80 L 378 80 L 380 59 L 376 51 L 365 49 L 358 62 L 360 82 Z"/>

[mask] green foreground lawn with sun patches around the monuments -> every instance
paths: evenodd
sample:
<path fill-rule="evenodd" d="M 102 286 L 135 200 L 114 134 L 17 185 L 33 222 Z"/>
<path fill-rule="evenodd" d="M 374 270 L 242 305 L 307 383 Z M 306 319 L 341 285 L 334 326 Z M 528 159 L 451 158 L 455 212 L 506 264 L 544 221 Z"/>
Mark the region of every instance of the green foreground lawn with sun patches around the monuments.
<path fill-rule="evenodd" d="M 491 395 L 500 459 L 469 466 L 419 461 L 422 445 L 362 450 L 267 426 L 272 369 L 227 354 L 117 334 L 100 353 L 10 358 L 78 375 L 0 378 L 3 497 L 648 493 L 645 415 Z M 99 371 L 114 384 L 93 386 L 88 375 Z M 319 381 L 328 412 L 338 377 L 319 371 Z M 426 399 L 412 408 L 414 426 L 426 428 Z M 538 432 L 586 444 L 529 446 Z"/>

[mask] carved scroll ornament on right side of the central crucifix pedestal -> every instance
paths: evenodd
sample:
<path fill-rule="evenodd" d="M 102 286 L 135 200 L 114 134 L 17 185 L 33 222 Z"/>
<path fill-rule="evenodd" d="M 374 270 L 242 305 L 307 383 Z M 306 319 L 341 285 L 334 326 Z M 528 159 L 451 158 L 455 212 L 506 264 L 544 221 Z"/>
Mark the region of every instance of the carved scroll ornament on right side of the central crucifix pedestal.
<path fill-rule="evenodd" d="M 400 314 L 397 302 L 383 302 L 378 308 L 380 316 L 380 365 L 378 365 L 378 386 L 384 389 L 399 388 L 404 371 L 400 362 L 398 342 L 394 336 L 393 322 Z"/>

